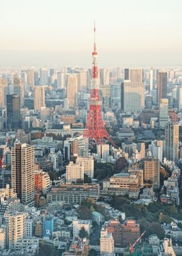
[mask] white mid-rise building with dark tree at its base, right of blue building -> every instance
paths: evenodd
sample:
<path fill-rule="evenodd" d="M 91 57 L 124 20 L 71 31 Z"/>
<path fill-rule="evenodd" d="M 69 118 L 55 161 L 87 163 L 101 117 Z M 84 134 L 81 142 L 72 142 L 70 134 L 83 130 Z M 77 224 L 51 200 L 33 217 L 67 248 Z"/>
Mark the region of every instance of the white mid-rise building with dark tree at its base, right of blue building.
<path fill-rule="evenodd" d="M 91 229 L 91 221 L 90 219 L 76 219 L 73 220 L 73 239 L 79 235 L 79 231 L 81 228 L 84 227 L 85 231 L 88 232 L 88 236 L 90 236 L 90 229 Z"/>

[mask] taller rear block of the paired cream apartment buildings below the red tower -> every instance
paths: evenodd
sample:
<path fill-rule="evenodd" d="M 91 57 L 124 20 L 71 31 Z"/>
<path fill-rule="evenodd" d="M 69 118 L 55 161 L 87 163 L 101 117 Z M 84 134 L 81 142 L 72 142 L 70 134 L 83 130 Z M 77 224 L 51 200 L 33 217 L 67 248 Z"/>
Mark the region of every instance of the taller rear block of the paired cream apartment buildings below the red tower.
<path fill-rule="evenodd" d="M 94 158 L 93 157 L 77 157 L 77 164 L 83 165 L 84 174 L 90 178 L 94 178 Z"/>

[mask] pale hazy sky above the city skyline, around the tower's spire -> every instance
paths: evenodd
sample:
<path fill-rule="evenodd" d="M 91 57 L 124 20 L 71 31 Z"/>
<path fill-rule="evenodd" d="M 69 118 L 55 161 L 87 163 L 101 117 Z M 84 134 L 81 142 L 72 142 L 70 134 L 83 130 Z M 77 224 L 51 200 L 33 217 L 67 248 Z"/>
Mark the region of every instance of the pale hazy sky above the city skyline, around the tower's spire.
<path fill-rule="evenodd" d="M 182 67 L 181 0 L 0 0 L 0 67 Z"/>

